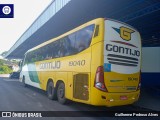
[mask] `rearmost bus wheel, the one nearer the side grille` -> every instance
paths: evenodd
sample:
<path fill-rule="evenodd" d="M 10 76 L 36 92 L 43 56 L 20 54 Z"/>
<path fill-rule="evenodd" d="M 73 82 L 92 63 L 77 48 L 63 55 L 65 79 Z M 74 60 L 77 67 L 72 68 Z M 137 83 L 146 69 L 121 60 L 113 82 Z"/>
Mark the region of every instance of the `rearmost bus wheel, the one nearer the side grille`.
<path fill-rule="evenodd" d="M 67 99 L 65 98 L 65 85 L 64 83 L 60 83 L 57 89 L 57 98 L 58 102 L 61 104 L 65 104 Z"/>

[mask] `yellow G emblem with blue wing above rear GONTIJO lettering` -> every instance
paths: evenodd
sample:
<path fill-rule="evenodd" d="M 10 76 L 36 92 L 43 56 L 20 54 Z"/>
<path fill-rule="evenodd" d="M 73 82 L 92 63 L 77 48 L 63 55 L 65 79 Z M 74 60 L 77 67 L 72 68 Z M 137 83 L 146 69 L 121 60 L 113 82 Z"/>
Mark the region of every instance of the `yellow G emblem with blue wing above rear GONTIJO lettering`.
<path fill-rule="evenodd" d="M 131 29 L 123 27 L 123 26 L 121 26 L 120 28 L 114 28 L 114 27 L 112 27 L 112 28 L 120 34 L 120 37 L 123 40 L 126 40 L 126 41 L 130 41 L 131 34 L 135 32 L 134 30 L 131 30 Z"/>

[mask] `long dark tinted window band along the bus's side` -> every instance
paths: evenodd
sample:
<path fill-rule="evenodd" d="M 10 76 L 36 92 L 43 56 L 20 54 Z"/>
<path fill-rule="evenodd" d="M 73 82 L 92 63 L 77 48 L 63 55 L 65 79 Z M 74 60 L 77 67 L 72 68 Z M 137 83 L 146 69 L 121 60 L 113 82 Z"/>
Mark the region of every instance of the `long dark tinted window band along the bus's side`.
<path fill-rule="evenodd" d="M 89 47 L 93 31 L 94 25 L 90 25 L 64 38 L 31 51 L 26 55 L 25 64 L 79 53 Z"/>

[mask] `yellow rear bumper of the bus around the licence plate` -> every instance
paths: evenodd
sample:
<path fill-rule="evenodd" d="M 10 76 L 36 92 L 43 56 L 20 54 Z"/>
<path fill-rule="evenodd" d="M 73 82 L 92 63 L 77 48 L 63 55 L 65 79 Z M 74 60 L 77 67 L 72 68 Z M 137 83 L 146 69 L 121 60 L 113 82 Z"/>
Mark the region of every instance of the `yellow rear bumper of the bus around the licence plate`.
<path fill-rule="evenodd" d="M 99 94 L 99 100 L 98 101 L 92 101 L 93 105 L 96 106 L 121 106 L 121 105 L 128 105 L 133 104 L 136 102 L 139 98 L 140 90 L 131 92 L 131 93 L 103 93 Z M 127 99 L 121 100 L 121 96 L 126 96 Z"/>

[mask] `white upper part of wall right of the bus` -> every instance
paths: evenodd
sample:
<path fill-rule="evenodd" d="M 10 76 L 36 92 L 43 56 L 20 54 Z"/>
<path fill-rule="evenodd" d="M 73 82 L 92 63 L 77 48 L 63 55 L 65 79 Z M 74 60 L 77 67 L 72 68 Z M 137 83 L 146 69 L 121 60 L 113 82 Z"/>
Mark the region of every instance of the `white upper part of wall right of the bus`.
<path fill-rule="evenodd" d="M 142 72 L 160 72 L 160 47 L 142 48 Z"/>

